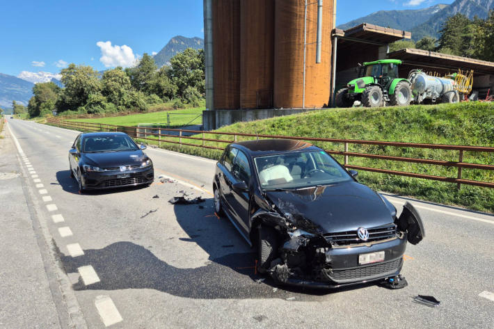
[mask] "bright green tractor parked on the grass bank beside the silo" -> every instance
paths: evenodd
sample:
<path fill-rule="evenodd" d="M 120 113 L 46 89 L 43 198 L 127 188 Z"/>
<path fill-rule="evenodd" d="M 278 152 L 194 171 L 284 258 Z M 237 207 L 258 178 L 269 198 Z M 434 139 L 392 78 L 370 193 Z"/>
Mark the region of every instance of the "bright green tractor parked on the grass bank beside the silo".
<path fill-rule="evenodd" d="M 398 59 L 364 63 L 360 66 L 358 78 L 336 93 L 336 106 L 351 107 L 355 101 L 367 107 L 410 104 L 413 99 L 411 83 L 399 79 L 400 64 Z"/>

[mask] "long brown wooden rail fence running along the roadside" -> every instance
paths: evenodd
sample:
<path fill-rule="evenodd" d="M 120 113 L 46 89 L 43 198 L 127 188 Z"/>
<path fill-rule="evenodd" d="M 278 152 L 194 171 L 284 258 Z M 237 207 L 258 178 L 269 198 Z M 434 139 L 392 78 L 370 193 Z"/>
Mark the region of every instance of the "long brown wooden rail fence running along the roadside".
<path fill-rule="evenodd" d="M 443 144 L 426 144 L 426 143 L 404 143 L 404 142 L 387 142 L 387 141 L 360 141 L 360 140 L 349 140 L 341 138 L 316 138 L 316 137 L 305 137 L 305 136 L 277 136 L 277 135 L 264 135 L 264 134 L 244 134 L 244 133 L 233 133 L 233 132 L 218 132 L 218 131 L 198 131 L 198 130 L 188 130 L 188 129 L 171 129 L 163 128 L 159 129 L 159 133 L 154 132 L 155 128 L 146 127 L 129 127 L 129 126 L 118 126 L 118 125 L 107 125 L 103 123 L 89 123 L 89 122 L 75 122 L 58 120 L 56 118 L 50 118 L 48 120 L 52 125 L 58 125 L 61 127 L 69 127 L 81 131 L 123 131 L 129 136 L 134 138 L 139 138 L 143 140 L 150 140 L 157 142 L 160 146 L 161 143 L 173 143 L 179 145 L 187 145 L 193 147 L 203 147 L 212 150 L 223 150 L 224 147 L 216 147 L 211 145 L 205 145 L 205 142 L 215 142 L 215 143 L 225 143 L 230 144 L 237 141 L 239 136 L 242 137 L 255 137 L 255 138 L 281 138 L 281 139 L 292 139 L 292 140 L 302 140 L 310 142 L 329 142 L 329 143 L 339 143 L 344 147 L 343 151 L 338 150 L 326 150 L 329 154 L 337 154 L 344 156 L 344 166 L 349 169 L 364 170 L 369 172 L 380 172 L 389 175 L 399 175 L 405 177 L 415 177 L 422 179 L 431 179 L 439 182 L 448 182 L 457 184 L 457 188 L 461 188 L 461 184 L 482 186 L 488 188 L 494 188 L 493 182 L 481 182 L 477 180 L 463 179 L 462 169 L 479 169 L 479 170 L 494 170 L 493 165 L 489 164 L 479 164 L 479 163 L 467 163 L 463 162 L 463 152 L 494 152 L 494 147 L 486 146 L 465 146 L 465 145 L 443 145 Z M 173 134 L 161 134 L 162 131 L 173 131 L 177 135 Z M 183 133 L 192 133 L 194 136 L 183 136 Z M 221 136 L 233 136 L 231 140 L 216 139 L 216 138 L 205 138 L 205 135 L 221 135 Z M 141 137 L 144 135 L 144 137 Z M 202 137 L 198 137 L 202 135 Z M 150 138 L 149 136 L 157 136 L 157 138 Z M 163 139 L 167 138 L 177 138 L 175 140 Z M 193 141 L 202 141 L 202 144 L 185 143 L 183 139 L 189 139 Z M 413 148 L 425 148 L 431 150 L 453 150 L 459 152 L 458 161 L 443 161 L 443 160 L 432 160 L 432 159 L 419 159 L 419 158 L 407 158 L 407 157 L 392 157 L 380 154 L 367 154 L 358 152 L 349 152 L 349 145 L 360 144 L 360 145 L 380 145 L 380 146 L 392 146 L 392 147 L 413 147 Z M 408 163 L 425 163 L 434 166 L 444 166 L 444 167 L 456 167 L 457 176 L 456 177 L 443 177 L 434 175 L 418 174 L 415 172 L 403 172 L 397 170 L 388 170 L 383 168 L 369 168 L 362 166 L 354 166 L 349 164 L 349 157 L 362 157 L 369 159 L 380 159 L 388 161 L 401 161 Z"/>

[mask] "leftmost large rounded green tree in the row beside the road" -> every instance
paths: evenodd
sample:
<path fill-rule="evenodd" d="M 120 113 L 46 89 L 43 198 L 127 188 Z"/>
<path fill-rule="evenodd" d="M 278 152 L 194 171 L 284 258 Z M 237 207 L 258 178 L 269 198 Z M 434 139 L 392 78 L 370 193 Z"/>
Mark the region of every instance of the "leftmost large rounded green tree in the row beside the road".
<path fill-rule="evenodd" d="M 47 115 L 55 109 L 60 88 L 53 82 L 36 83 L 33 87 L 33 97 L 29 99 L 27 111 L 30 118 Z"/>

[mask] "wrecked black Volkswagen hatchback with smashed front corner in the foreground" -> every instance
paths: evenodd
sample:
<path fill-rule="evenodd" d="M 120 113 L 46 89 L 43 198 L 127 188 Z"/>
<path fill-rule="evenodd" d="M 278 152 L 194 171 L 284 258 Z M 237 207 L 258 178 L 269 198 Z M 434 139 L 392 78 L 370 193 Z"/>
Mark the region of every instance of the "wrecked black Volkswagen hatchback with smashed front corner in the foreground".
<path fill-rule="evenodd" d="M 258 270 L 277 282 L 404 287 L 406 243 L 422 240 L 422 220 L 409 203 L 397 218 L 356 176 L 310 143 L 234 143 L 216 165 L 214 207 L 257 246 Z"/>

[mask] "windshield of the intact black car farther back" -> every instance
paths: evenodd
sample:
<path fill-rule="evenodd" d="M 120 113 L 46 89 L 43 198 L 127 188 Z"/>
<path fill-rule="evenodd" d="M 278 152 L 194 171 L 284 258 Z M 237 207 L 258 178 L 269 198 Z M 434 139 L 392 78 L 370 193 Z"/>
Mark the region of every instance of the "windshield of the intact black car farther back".
<path fill-rule="evenodd" d="M 138 147 L 127 135 L 89 136 L 83 139 L 82 152 L 136 151 Z"/>

